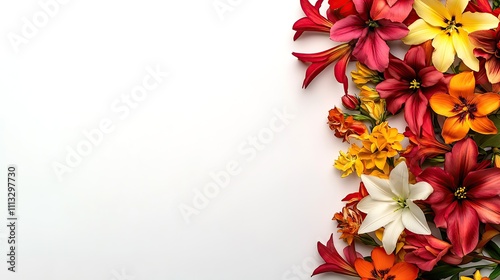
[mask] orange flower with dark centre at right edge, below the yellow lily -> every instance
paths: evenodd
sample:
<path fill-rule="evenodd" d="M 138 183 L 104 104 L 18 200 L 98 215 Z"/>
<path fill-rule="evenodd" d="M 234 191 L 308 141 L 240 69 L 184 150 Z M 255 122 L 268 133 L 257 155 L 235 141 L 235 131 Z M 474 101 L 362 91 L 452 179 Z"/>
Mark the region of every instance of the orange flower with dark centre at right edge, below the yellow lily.
<path fill-rule="evenodd" d="M 474 74 L 463 72 L 451 79 L 449 94 L 437 93 L 429 100 L 434 112 L 447 117 L 442 131 L 447 144 L 463 139 L 469 129 L 481 134 L 498 133 L 487 115 L 500 108 L 500 95 L 475 93 L 475 86 Z"/>

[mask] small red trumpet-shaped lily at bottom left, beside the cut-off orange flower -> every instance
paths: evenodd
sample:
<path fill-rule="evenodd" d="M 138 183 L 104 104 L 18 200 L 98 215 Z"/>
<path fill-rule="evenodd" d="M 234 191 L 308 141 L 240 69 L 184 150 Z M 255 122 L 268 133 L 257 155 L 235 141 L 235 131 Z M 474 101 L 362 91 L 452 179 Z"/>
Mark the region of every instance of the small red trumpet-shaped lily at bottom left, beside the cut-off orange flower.
<path fill-rule="evenodd" d="M 326 243 L 326 246 L 318 242 L 318 252 L 325 263 L 314 270 L 312 274 L 313 276 L 325 272 L 358 276 L 358 273 L 354 268 L 354 262 L 357 258 L 362 258 L 362 256 L 356 252 L 354 244 L 344 248 L 344 255 L 346 259 L 343 259 L 337 252 L 337 249 L 335 249 L 332 234 Z"/>

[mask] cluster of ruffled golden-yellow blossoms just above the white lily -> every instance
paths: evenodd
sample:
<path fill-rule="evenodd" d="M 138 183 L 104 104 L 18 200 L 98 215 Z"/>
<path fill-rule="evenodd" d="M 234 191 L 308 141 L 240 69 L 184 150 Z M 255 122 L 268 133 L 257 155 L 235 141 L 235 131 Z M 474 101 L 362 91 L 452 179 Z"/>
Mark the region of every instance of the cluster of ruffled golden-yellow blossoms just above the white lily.
<path fill-rule="evenodd" d="M 389 127 L 387 122 L 375 126 L 372 133 L 358 136 L 362 146 L 355 143 L 351 145 L 347 153 L 340 152 L 335 161 L 335 168 L 342 171 L 342 177 L 356 172 L 361 174 L 388 178 L 395 162 L 395 157 L 403 150 L 401 141 L 404 135 L 397 128 Z"/>

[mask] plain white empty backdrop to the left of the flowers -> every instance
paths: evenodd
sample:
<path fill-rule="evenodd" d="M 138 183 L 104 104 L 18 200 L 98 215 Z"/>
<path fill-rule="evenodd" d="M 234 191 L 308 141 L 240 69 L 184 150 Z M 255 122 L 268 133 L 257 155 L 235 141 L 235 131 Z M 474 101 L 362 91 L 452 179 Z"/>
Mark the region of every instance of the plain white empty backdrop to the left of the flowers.
<path fill-rule="evenodd" d="M 358 179 L 332 167 L 346 148 L 326 124 L 342 95 L 332 68 L 303 90 L 291 52 L 333 42 L 293 42 L 298 0 L 232 1 L 223 14 L 215 2 L 69 0 L 16 52 L 9 37 L 43 10 L 1 1 L 0 181 L 19 170 L 16 273 L 0 186 L 2 279 L 296 280 L 321 263 L 316 242 Z M 113 102 L 158 65 L 169 77 L 121 119 Z M 285 129 L 241 153 L 284 108 Z M 114 131 L 59 180 L 55 162 L 103 119 Z M 241 172 L 183 217 L 231 161 Z"/>

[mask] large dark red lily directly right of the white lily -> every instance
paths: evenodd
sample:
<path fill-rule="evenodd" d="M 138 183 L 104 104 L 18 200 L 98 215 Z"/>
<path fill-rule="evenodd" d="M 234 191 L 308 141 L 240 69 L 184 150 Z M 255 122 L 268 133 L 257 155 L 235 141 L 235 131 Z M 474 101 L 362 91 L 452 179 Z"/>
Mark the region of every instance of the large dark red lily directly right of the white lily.
<path fill-rule="evenodd" d="M 444 170 L 427 168 L 417 177 L 434 188 L 426 202 L 435 213 L 436 226 L 447 229 L 458 257 L 476 248 L 480 221 L 500 223 L 500 169 L 486 169 L 490 162 L 478 164 L 477 157 L 476 143 L 467 138 L 446 154 Z"/>

